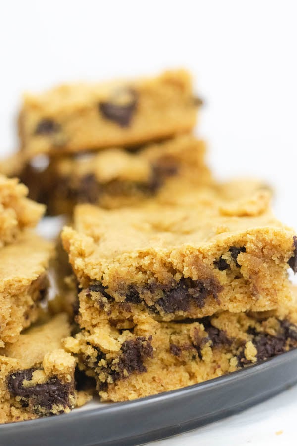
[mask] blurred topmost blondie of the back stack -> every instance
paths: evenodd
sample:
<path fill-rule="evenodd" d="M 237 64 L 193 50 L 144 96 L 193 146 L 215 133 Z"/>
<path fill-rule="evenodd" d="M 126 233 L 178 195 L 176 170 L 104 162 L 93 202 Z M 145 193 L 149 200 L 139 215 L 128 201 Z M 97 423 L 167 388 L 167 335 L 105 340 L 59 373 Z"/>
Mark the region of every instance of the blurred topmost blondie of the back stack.
<path fill-rule="evenodd" d="M 190 75 L 61 85 L 26 95 L 19 133 L 26 156 L 133 146 L 191 130 L 197 101 Z"/>

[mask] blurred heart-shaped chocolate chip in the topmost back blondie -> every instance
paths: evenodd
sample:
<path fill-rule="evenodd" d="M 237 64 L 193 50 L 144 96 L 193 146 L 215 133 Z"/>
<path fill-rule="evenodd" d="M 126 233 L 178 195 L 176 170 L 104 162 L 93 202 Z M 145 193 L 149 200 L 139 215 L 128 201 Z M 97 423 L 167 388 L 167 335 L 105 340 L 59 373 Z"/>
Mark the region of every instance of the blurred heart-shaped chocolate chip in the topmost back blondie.
<path fill-rule="evenodd" d="M 132 89 L 125 90 L 123 93 L 131 97 L 127 104 L 116 103 L 117 94 L 115 94 L 114 100 L 99 103 L 99 111 L 106 119 L 116 122 L 121 127 L 128 127 L 136 110 L 138 98 L 136 91 Z"/>

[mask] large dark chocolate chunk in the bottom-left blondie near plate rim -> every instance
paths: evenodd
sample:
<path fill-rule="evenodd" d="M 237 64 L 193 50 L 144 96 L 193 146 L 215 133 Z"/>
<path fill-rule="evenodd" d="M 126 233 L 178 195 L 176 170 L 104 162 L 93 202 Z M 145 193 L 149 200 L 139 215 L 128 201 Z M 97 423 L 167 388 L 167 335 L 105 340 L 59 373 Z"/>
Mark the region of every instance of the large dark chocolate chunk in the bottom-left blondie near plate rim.
<path fill-rule="evenodd" d="M 53 405 L 66 407 L 69 403 L 70 384 L 62 384 L 54 377 L 43 384 L 35 384 L 31 387 L 24 387 L 23 381 L 32 379 L 34 369 L 19 370 L 11 373 L 7 378 L 7 388 L 13 396 L 32 399 L 33 405 L 52 409 Z"/>

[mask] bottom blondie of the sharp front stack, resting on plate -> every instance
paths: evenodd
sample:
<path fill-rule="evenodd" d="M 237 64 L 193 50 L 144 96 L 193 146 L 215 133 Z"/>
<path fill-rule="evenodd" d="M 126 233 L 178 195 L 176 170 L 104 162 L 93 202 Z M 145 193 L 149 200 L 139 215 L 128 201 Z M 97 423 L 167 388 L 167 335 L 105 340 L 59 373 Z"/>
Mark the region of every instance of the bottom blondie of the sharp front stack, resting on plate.
<path fill-rule="evenodd" d="M 295 348 L 296 323 L 296 303 L 187 323 L 157 322 L 142 312 L 130 329 L 98 323 L 64 345 L 95 377 L 102 400 L 124 401 L 216 378 Z"/>

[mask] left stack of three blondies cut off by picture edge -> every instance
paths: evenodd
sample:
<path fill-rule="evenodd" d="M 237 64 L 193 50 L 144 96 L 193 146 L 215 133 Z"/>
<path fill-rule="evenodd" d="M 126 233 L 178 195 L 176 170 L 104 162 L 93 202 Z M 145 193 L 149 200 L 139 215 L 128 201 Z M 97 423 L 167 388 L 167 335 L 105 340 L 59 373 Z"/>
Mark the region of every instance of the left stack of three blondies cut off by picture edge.
<path fill-rule="evenodd" d="M 76 359 L 61 343 L 71 333 L 68 316 L 44 314 L 54 245 L 33 230 L 45 206 L 27 192 L 0 175 L 0 423 L 67 412 L 83 398 L 74 388 Z"/>

